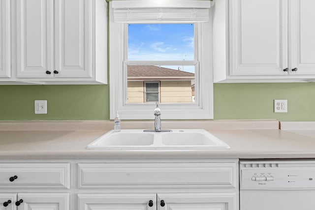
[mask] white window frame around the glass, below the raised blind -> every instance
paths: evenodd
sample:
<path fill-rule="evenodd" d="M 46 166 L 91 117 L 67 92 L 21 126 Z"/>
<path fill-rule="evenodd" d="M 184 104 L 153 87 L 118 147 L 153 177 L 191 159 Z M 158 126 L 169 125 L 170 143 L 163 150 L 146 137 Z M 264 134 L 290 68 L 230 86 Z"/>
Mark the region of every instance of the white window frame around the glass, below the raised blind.
<path fill-rule="evenodd" d="M 124 62 L 126 46 L 126 23 L 115 23 L 113 8 L 109 2 L 109 88 L 110 88 L 110 119 L 113 120 L 116 112 L 122 120 L 150 120 L 154 119 L 155 104 L 126 103 L 127 64 L 138 61 Z M 170 103 L 160 104 L 161 119 L 213 119 L 213 69 L 212 69 L 212 15 L 209 22 L 197 24 L 197 55 L 199 70 L 195 72 L 199 103 Z M 187 61 L 194 64 L 194 61 Z M 145 62 L 143 63 L 145 64 Z M 154 64 L 158 64 L 157 61 Z M 161 65 L 172 64 L 161 61 Z M 147 63 L 150 65 L 150 63 Z"/>

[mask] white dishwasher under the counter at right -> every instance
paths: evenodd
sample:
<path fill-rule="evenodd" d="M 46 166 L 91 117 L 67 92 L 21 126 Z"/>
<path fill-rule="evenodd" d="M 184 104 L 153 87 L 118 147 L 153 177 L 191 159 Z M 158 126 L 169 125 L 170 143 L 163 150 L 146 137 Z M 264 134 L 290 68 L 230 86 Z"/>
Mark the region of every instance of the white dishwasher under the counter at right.
<path fill-rule="evenodd" d="M 240 161 L 240 210 L 315 210 L 315 161 Z"/>

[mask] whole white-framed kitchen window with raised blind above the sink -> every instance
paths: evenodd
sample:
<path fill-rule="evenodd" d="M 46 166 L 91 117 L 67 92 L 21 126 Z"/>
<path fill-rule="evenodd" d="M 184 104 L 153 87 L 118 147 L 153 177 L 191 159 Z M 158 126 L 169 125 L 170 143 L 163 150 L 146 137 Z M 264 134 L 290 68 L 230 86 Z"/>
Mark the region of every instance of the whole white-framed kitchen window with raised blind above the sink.
<path fill-rule="evenodd" d="M 141 2 L 110 1 L 110 119 L 213 119 L 210 1 Z"/>

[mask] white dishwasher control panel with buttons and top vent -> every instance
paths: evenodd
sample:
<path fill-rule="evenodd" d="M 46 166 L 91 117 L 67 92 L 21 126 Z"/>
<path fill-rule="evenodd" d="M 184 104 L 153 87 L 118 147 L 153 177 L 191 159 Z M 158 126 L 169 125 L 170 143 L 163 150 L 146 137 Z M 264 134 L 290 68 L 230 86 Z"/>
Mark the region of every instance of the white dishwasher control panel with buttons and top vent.
<path fill-rule="evenodd" d="M 315 164 L 242 164 L 240 188 L 315 188 Z"/>

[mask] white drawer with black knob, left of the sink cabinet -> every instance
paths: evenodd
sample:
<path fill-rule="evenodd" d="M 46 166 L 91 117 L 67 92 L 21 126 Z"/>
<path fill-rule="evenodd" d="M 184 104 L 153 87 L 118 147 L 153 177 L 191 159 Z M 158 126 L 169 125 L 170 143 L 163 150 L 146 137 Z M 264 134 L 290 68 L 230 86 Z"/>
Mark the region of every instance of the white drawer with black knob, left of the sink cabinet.
<path fill-rule="evenodd" d="M 69 163 L 0 163 L 0 188 L 70 188 Z"/>

